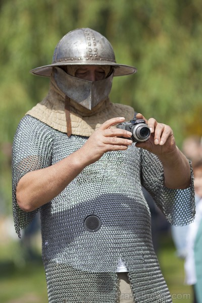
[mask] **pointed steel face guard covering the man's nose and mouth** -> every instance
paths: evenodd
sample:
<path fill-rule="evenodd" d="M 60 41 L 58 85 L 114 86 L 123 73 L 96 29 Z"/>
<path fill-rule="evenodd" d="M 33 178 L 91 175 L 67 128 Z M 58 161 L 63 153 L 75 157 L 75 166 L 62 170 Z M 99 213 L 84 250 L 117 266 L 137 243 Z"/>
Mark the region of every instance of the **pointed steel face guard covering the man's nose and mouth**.
<path fill-rule="evenodd" d="M 113 81 L 113 73 L 98 81 L 88 81 L 67 74 L 59 67 L 53 69 L 58 87 L 74 102 L 92 110 L 99 102 L 108 97 Z"/>

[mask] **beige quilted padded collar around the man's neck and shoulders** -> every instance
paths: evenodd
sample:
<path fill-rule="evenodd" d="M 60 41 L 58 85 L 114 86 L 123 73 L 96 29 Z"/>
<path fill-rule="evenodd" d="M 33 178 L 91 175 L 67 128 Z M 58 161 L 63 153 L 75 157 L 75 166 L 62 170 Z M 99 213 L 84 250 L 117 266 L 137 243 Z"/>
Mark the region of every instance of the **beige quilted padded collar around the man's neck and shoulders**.
<path fill-rule="evenodd" d="M 67 132 L 65 116 L 65 94 L 58 88 L 51 76 L 47 96 L 26 113 L 52 128 Z M 105 121 L 115 117 L 125 117 L 129 121 L 134 116 L 130 106 L 111 103 L 109 97 L 91 111 L 70 99 L 70 118 L 73 135 L 90 136 Z"/>

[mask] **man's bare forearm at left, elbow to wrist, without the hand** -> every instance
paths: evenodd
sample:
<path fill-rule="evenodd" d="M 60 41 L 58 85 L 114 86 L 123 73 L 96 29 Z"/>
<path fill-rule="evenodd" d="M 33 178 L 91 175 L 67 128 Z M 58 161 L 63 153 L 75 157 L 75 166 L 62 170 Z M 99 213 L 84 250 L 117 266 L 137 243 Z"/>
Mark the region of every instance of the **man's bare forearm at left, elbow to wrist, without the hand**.
<path fill-rule="evenodd" d="M 60 162 L 24 175 L 17 186 L 19 207 L 30 212 L 52 200 L 88 165 L 81 150 Z"/>

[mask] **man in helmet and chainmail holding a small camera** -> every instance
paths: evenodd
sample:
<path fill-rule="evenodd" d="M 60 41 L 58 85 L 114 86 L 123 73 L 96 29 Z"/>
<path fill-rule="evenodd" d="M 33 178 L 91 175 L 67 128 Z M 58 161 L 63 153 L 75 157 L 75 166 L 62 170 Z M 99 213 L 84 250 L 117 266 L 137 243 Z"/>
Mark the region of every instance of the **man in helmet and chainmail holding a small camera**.
<path fill-rule="evenodd" d="M 144 119 L 147 141 L 116 128 L 134 110 L 113 104 L 117 64 L 110 42 L 89 28 L 66 34 L 48 95 L 21 120 L 13 144 L 16 231 L 41 213 L 49 302 L 171 302 L 153 248 L 143 185 L 172 224 L 194 215 L 190 165 L 172 129 Z M 178 198 L 177 198 L 178 197 Z"/>

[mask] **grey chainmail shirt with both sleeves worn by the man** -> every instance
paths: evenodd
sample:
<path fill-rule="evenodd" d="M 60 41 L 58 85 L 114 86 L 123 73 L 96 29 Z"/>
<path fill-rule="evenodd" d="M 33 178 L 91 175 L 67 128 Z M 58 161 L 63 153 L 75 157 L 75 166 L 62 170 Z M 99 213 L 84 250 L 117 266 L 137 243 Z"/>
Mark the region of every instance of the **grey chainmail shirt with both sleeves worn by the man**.
<path fill-rule="evenodd" d="M 87 137 L 57 131 L 27 115 L 13 143 L 13 213 L 16 232 L 36 211 L 26 213 L 16 202 L 16 186 L 27 172 L 51 166 L 80 148 Z M 158 158 L 132 144 L 106 153 L 87 166 L 57 197 L 40 208 L 42 258 L 50 303 L 115 303 L 117 264 L 125 262 L 135 302 L 172 302 L 151 239 L 150 212 L 141 184 L 171 224 L 194 217 L 192 185 L 164 187 Z M 96 232 L 84 228 L 94 214 Z"/>

